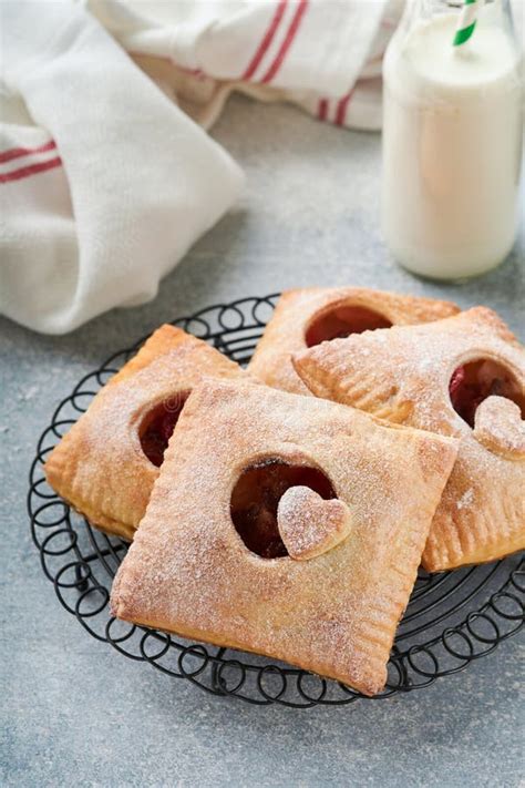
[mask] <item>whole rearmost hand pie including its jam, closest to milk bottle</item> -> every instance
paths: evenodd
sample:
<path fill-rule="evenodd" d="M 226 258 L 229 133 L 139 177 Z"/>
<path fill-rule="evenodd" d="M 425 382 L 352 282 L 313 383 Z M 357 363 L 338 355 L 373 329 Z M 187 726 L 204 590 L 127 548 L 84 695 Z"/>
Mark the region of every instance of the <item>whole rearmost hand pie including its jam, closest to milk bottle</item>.
<path fill-rule="evenodd" d="M 457 311 L 449 301 L 361 287 L 288 290 L 280 297 L 248 370 L 267 386 L 309 395 L 292 367 L 291 354 L 336 337 L 394 324 L 429 323 Z"/>

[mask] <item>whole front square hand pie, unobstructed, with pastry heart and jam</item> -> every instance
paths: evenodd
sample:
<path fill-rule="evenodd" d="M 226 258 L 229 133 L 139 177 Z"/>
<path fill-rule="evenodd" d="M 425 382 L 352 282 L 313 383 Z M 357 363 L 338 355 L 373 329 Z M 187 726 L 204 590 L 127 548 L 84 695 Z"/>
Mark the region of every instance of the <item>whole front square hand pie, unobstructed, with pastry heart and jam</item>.
<path fill-rule="evenodd" d="M 119 618 L 373 695 L 456 442 L 249 382 L 194 389 L 112 590 Z"/>

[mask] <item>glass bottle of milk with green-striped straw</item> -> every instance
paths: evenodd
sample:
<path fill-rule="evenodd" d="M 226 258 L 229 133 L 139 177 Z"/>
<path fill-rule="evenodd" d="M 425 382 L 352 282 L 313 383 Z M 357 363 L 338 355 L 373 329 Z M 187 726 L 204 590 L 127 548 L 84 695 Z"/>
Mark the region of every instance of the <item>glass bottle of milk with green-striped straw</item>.
<path fill-rule="evenodd" d="M 397 260 L 435 279 L 494 268 L 515 239 L 522 160 L 508 1 L 409 0 L 383 78 L 383 231 Z"/>

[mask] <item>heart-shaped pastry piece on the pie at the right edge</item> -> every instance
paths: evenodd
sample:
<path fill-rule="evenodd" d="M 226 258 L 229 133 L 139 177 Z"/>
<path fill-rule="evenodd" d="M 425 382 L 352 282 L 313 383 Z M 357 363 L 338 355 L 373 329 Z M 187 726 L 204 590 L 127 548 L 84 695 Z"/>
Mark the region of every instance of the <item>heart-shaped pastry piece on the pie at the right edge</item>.
<path fill-rule="evenodd" d="M 474 438 L 508 460 L 525 459 L 525 421 L 519 407 L 506 397 L 487 397 L 477 407 Z"/>

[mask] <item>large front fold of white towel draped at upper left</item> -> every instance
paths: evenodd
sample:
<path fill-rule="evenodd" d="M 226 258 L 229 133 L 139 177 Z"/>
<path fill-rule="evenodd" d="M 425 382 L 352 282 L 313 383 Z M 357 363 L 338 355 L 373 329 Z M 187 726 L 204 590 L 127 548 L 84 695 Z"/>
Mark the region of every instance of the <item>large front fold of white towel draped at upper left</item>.
<path fill-rule="evenodd" d="M 2 30 L 0 311 L 61 334 L 154 297 L 243 175 L 84 9 L 4 2 Z"/>

